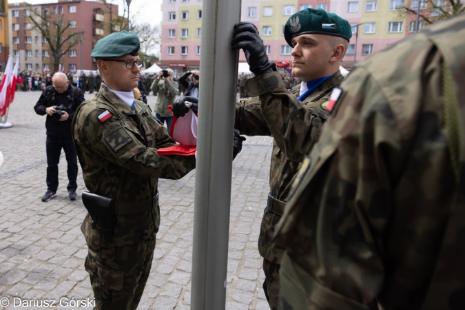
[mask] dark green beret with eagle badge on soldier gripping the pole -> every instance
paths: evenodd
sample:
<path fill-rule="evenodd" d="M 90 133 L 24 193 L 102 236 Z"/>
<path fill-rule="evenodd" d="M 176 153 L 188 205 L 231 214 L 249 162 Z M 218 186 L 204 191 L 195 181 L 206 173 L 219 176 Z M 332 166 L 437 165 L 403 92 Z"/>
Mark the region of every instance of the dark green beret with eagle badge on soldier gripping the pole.
<path fill-rule="evenodd" d="M 338 17 L 334 13 L 327 13 L 322 9 L 307 8 L 291 16 L 285 25 L 285 39 L 291 45 L 293 37 L 300 34 L 316 33 L 342 37 L 350 41 L 352 27 L 349 21 Z"/>

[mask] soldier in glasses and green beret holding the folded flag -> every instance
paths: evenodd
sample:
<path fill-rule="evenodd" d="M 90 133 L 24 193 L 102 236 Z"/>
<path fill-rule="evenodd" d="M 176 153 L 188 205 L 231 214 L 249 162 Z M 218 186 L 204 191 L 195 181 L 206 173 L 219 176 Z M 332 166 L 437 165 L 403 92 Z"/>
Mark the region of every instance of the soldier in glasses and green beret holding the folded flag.
<path fill-rule="evenodd" d="M 72 122 L 85 186 L 114 202 L 110 242 L 89 214 L 81 225 L 89 249 L 85 269 L 99 310 L 137 308 L 160 225 L 158 178 L 182 178 L 195 165 L 194 156 L 157 154 L 176 143 L 149 107 L 134 101 L 139 46 L 136 34 L 125 31 L 96 43 L 91 56 L 105 84 L 79 106 Z"/>

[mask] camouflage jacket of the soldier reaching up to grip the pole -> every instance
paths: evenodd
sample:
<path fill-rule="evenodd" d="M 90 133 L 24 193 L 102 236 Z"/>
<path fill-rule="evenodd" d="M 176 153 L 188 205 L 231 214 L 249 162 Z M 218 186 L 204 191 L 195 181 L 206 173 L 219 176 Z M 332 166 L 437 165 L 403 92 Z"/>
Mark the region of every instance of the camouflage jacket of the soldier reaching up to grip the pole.
<path fill-rule="evenodd" d="M 265 87 L 267 85 L 261 81 L 262 79 L 273 79 L 273 81 L 278 81 L 278 85 L 267 88 Z M 247 136 L 273 136 L 269 186 L 271 194 L 276 199 L 286 201 L 292 180 L 300 168 L 302 156 L 298 152 L 302 152 L 300 149 L 310 149 L 317 141 L 320 127 L 327 119 L 324 104 L 327 103 L 333 87 L 338 85 L 342 79 L 342 74 L 339 71 L 336 72 L 303 102 L 297 99 L 300 85 L 289 92 L 278 72 L 247 80 L 247 93 L 261 96 L 260 99 L 258 97 L 240 99 L 236 103 L 234 127 L 240 130 L 240 134 L 247 134 Z M 300 143 L 297 148 L 298 152 L 290 151 L 295 160 L 290 159 L 283 152 L 285 149 L 283 140 L 291 138 L 291 136 L 282 138 L 284 128 L 288 128 L 291 134 L 298 133 L 307 137 L 299 136 L 296 141 Z M 280 214 L 265 209 L 258 240 L 260 255 L 271 262 L 278 263 L 281 261 L 284 249 L 272 242 L 271 236 L 274 234 L 274 227 L 280 217 Z"/>

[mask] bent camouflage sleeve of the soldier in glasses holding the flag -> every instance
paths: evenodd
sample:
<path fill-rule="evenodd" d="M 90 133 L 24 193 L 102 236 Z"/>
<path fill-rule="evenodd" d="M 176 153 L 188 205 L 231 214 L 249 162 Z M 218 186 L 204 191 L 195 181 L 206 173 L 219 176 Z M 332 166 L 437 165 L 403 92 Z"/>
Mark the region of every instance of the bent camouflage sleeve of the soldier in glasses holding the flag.
<path fill-rule="evenodd" d="M 97 116 L 102 112 L 104 110 L 94 110 L 85 120 L 76 120 L 76 124 L 86 123 L 85 126 L 78 126 L 76 141 L 83 144 L 82 148 L 91 152 L 92 156 L 105 158 L 131 172 L 154 178 L 176 180 L 194 169 L 194 156 L 160 156 L 157 148 L 141 143 L 144 141 L 141 132 L 123 120 L 113 119 L 116 116 L 104 124 L 99 123 Z M 156 147 L 174 145 L 162 128 L 156 130 L 156 135 L 151 138 L 155 139 Z"/>

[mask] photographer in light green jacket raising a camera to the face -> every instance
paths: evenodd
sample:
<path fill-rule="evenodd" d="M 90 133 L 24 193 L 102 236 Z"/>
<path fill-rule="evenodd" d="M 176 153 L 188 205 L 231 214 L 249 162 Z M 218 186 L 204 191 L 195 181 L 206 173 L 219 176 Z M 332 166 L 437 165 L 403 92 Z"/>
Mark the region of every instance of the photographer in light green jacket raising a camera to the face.
<path fill-rule="evenodd" d="M 167 69 L 158 72 L 158 76 L 150 86 L 150 89 L 152 92 L 158 94 L 154 109 L 155 118 L 162 124 L 166 121 L 169 132 L 173 121 L 173 114 L 169 112 L 168 105 L 173 104 L 179 89 L 178 83 L 173 81 L 173 70 Z"/>

